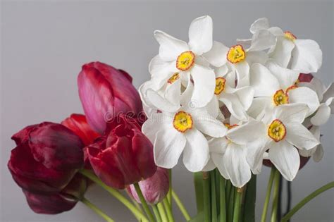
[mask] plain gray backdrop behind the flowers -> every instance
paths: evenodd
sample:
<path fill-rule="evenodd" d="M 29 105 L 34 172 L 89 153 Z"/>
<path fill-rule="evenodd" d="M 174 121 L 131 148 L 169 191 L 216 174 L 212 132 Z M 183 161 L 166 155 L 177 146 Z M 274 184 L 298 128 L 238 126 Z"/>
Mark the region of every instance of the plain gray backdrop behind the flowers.
<path fill-rule="evenodd" d="M 214 39 L 227 45 L 249 37 L 249 25 L 266 16 L 272 25 L 298 38 L 316 40 L 323 50 L 318 78 L 333 82 L 333 1 L 15 1 L 1 8 L 1 221 L 102 221 L 79 203 L 72 211 L 46 216 L 34 214 L 13 182 L 6 163 L 14 143 L 11 135 L 25 125 L 60 122 L 82 113 L 76 78 L 82 64 L 102 61 L 127 70 L 139 87 L 149 79 L 149 60 L 158 52 L 156 29 L 187 40 L 188 26 L 198 16 L 214 19 Z M 295 205 L 317 187 L 333 180 L 333 117 L 322 128 L 325 156 L 309 161 L 294 180 Z M 268 168 L 258 180 L 257 221 L 264 202 Z M 192 174 L 182 164 L 173 171 L 174 189 L 194 215 Z M 116 221 L 135 221 L 130 213 L 99 187 L 87 198 Z M 293 221 L 333 221 L 334 192 L 316 197 Z M 175 210 L 176 211 L 176 210 Z M 178 211 L 177 211 L 178 212 Z M 177 213 L 176 221 L 183 221 Z"/>

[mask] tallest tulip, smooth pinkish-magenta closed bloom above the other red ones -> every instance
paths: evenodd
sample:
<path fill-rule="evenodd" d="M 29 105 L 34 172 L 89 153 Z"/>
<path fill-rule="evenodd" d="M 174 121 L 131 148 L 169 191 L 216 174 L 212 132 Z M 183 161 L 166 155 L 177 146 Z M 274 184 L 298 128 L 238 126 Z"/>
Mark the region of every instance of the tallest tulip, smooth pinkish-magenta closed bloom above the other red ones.
<path fill-rule="evenodd" d="M 106 122 L 119 113 L 140 113 L 142 101 L 132 78 L 123 70 L 100 62 L 87 63 L 78 75 L 79 96 L 92 128 L 106 130 Z"/>

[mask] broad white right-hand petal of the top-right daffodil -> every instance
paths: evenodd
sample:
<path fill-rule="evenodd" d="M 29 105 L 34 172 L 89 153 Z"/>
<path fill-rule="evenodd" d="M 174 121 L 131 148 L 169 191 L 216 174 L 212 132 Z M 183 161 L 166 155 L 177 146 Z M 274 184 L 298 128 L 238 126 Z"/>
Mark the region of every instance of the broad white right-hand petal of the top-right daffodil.
<path fill-rule="evenodd" d="M 296 39 L 291 68 L 300 73 L 316 73 L 321 67 L 322 58 L 322 51 L 314 40 Z"/>

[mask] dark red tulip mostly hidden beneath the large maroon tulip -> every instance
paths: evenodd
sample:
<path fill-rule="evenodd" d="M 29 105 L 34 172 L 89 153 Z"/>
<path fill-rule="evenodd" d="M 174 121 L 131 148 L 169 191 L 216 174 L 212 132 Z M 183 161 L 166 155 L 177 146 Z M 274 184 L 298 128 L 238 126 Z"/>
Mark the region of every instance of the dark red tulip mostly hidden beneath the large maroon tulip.
<path fill-rule="evenodd" d="M 68 185 L 54 194 L 41 194 L 23 190 L 27 203 L 32 211 L 37 214 L 59 214 L 73 209 L 75 204 L 82 199 L 87 190 L 87 180 L 80 174 L 68 183 Z"/>

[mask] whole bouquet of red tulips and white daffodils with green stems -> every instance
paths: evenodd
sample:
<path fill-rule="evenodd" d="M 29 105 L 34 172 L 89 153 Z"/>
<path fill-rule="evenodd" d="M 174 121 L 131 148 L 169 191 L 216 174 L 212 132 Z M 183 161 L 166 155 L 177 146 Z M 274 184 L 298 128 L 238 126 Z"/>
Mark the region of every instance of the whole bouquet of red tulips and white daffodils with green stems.
<path fill-rule="evenodd" d="M 213 41 L 213 21 L 192 21 L 189 42 L 154 32 L 159 54 L 140 87 L 124 70 L 87 63 L 78 75 L 85 115 L 29 125 L 12 139 L 8 168 L 38 214 L 58 214 L 82 202 L 94 184 L 118 199 L 137 221 L 255 221 L 256 175 L 271 167 L 261 221 L 272 192 L 271 221 L 287 221 L 320 187 L 287 214 L 278 211 L 281 177 L 292 181 L 312 156 L 323 156 L 320 125 L 333 113 L 333 84 L 314 76 L 322 63 L 316 42 L 259 18 L 250 39 L 226 47 Z M 311 74 L 312 73 L 312 74 Z M 172 189 L 171 169 L 183 154 L 194 173 L 197 215 Z M 122 191 L 125 190 L 125 191 Z M 128 195 L 128 197 L 127 197 Z"/>

